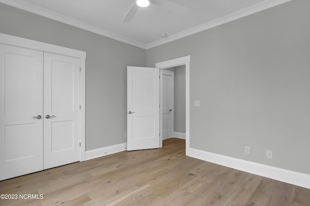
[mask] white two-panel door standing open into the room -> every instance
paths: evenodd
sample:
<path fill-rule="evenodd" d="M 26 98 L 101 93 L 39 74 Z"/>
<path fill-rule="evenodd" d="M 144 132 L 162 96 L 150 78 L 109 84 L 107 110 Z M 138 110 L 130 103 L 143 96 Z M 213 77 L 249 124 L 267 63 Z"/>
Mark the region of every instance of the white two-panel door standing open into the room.
<path fill-rule="evenodd" d="M 159 69 L 127 67 L 127 150 L 159 147 Z"/>

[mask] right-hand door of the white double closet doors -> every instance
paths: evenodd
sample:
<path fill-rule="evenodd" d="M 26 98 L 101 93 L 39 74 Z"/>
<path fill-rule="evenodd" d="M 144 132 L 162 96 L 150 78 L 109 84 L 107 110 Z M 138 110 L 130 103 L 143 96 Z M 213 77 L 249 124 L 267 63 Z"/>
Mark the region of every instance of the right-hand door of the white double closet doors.
<path fill-rule="evenodd" d="M 79 59 L 44 53 L 44 169 L 79 161 Z"/>

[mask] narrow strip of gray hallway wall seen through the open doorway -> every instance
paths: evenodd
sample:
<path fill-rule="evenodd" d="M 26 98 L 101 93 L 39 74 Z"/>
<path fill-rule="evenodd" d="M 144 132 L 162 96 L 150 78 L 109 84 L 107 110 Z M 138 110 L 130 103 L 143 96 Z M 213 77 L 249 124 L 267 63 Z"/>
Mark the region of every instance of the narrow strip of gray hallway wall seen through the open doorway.
<path fill-rule="evenodd" d="M 174 132 L 186 133 L 185 65 L 174 67 Z"/>

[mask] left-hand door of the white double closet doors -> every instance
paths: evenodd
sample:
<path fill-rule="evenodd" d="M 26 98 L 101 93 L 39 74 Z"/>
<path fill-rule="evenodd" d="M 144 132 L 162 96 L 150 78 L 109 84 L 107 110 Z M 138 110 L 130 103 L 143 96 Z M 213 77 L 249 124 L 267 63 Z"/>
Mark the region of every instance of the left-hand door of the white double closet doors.
<path fill-rule="evenodd" d="M 43 170 L 43 52 L 0 44 L 0 180 Z"/>

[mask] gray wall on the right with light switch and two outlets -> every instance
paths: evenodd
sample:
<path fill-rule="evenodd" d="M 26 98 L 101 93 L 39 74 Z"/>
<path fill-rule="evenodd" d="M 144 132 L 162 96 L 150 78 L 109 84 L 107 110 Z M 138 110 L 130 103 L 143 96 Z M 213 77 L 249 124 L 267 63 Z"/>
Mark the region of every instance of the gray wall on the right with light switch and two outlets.
<path fill-rule="evenodd" d="M 309 8 L 293 0 L 147 50 L 147 66 L 191 56 L 190 147 L 310 174 Z"/>

